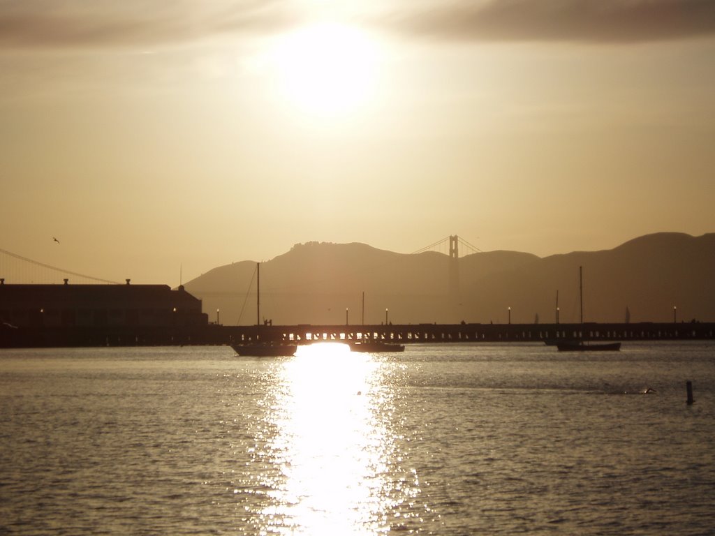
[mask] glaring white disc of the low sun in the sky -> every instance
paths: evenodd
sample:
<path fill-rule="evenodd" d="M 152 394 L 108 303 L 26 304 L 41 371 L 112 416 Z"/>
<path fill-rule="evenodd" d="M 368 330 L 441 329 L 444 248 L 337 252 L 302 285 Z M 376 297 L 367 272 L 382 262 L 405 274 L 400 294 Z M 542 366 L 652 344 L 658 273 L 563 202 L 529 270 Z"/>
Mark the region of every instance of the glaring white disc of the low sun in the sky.
<path fill-rule="evenodd" d="M 273 54 L 284 98 L 304 111 L 329 116 L 370 99 L 377 60 L 375 41 L 341 24 L 316 24 L 287 34 Z"/>

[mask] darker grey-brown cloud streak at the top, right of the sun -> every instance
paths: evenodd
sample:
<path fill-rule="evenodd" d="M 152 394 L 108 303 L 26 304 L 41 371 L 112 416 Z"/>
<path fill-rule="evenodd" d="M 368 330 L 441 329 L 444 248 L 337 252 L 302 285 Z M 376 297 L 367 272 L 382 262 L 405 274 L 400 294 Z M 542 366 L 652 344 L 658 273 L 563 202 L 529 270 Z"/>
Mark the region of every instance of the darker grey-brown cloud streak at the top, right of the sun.
<path fill-rule="evenodd" d="M 631 43 L 712 36 L 715 1 L 461 0 L 393 13 L 386 21 L 435 39 Z"/>

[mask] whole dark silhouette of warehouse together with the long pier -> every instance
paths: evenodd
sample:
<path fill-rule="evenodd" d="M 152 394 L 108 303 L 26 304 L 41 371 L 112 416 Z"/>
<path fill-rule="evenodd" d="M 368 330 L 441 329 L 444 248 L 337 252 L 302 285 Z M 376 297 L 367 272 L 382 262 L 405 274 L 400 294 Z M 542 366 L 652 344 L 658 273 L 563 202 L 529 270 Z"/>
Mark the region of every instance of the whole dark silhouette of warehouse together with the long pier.
<path fill-rule="evenodd" d="M 221 326 L 183 287 L 5 284 L 0 347 L 149 346 L 322 341 L 450 343 L 715 339 L 714 322 L 634 324 L 373 324 Z"/>

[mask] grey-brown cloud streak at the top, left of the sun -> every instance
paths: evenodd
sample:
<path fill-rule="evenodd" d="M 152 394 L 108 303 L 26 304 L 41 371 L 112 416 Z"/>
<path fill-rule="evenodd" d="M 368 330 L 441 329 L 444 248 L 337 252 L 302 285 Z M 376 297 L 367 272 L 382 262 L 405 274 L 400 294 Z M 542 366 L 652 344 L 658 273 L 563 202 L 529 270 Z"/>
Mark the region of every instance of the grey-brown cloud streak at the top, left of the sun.
<path fill-rule="evenodd" d="M 0 46 L 160 46 L 300 21 L 281 0 L 0 0 Z"/>

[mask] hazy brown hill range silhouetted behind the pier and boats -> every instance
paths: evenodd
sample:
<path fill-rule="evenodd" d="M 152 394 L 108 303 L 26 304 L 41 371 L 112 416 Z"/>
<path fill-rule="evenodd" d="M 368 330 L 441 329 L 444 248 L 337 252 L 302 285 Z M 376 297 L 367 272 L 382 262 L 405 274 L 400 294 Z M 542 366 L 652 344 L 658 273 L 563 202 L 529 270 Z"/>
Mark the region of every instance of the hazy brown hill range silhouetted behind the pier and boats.
<path fill-rule="evenodd" d="M 578 322 L 583 266 L 586 322 L 715 319 L 715 234 L 657 233 L 613 249 L 549 257 L 495 251 L 458 259 L 400 254 L 367 244 L 308 242 L 263 262 L 261 322 L 273 324 Z M 256 262 L 217 267 L 184 284 L 222 324 L 255 324 Z M 364 309 L 363 309 L 364 295 Z M 388 309 L 387 314 L 385 309 Z M 364 313 L 363 313 L 364 311 Z"/>

